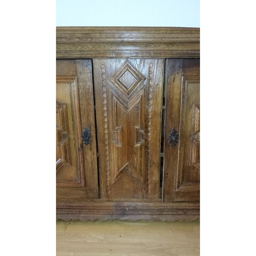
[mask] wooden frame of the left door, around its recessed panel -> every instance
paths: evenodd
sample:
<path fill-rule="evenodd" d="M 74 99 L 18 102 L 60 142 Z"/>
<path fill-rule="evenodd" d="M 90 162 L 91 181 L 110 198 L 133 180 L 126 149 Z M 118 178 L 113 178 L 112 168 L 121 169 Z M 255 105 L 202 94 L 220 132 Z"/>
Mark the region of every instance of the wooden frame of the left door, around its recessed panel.
<path fill-rule="evenodd" d="M 71 108 L 71 113 L 69 115 L 72 115 L 72 120 L 75 124 L 73 126 L 71 125 L 72 127 L 69 127 L 69 130 L 71 129 L 74 133 L 75 143 L 73 148 L 75 147 L 74 150 L 76 151 L 76 168 L 78 168 L 76 172 L 79 173 L 77 181 L 56 182 L 57 201 L 59 199 L 85 200 L 86 198 L 98 198 L 92 61 L 56 60 L 56 83 L 70 84 L 71 106 L 69 108 Z M 60 103 L 60 106 L 64 106 L 65 108 L 65 102 Z M 67 121 L 68 119 L 66 118 Z M 91 143 L 88 145 L 85 145 L 81 139 L 81 133 L 85 127 L 91 132 Z"/>

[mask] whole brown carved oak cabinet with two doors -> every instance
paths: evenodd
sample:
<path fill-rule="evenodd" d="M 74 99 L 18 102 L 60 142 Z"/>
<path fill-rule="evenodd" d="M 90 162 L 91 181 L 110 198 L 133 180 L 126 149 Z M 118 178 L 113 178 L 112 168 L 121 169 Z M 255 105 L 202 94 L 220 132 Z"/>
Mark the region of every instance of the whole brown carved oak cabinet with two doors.
<path fill-rule="evenodd" d="M 57 219 L 200 218 L 199 37 L 57 28 Z"/>

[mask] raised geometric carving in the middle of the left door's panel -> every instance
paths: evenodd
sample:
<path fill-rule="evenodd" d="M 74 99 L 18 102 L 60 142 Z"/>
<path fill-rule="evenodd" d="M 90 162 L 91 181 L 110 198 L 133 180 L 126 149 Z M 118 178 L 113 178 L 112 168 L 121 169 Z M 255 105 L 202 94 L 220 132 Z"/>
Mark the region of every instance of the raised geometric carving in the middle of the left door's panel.
<path fill-rule="evenodd" d="M 56 155 L 59 157 L 56 161 L 56 172 L 58 172 L 62 166 L 70 165 L 70 152 L 68 145 L 66 145 L 69 134 L 66 130 L 68 130 L 67 104 L 60 104 L 56 101 Z"/>

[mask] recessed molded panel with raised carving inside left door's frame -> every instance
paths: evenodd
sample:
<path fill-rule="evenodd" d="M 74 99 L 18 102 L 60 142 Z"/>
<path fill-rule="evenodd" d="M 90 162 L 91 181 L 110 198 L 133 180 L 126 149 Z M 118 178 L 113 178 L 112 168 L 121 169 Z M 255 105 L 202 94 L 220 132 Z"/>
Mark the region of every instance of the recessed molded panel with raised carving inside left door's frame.
<path fill-rule="evenodd" d="M 56 186 L 83 187 L 77 76 L 56 76 L 56 88 L 56 154 L 60 156 L 56 159 Z"/>

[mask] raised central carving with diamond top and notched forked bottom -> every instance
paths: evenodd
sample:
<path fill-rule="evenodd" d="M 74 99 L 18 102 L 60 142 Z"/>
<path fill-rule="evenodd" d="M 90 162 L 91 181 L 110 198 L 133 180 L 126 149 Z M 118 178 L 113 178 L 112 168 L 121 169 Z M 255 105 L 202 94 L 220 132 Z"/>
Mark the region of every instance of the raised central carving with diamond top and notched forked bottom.
<path fill-rule="evenodd" d="M 138 147 L 144 141 L 145 132 L 140 127 L 143 122 L 140 100 L 145 90 L 145 79 L 128 60 L 109 79 L 114 96 L 112 141 L 117 147 L 123 147 L 117 149 L 120 161 L 116 167 L 119 171 L 113 184 L 124 173 L 143 181 L 143 172 L 141 168 L 136 168 L 139 165 L 134 155 L 141 155 Z"/>

